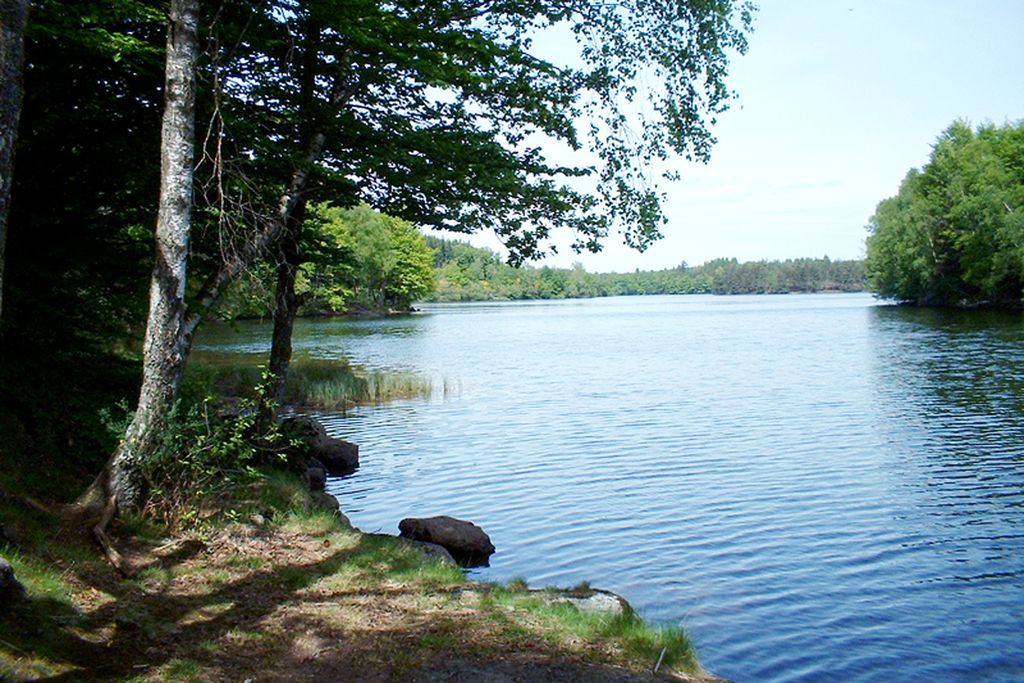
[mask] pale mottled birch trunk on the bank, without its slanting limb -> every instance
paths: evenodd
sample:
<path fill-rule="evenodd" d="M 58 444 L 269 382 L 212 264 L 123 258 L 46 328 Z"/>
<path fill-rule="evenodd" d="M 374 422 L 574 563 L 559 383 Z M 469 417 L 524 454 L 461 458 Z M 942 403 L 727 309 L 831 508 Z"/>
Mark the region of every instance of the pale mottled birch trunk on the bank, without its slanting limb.
<path fill-rule="evenodd" d="M 103 527 L 116 511 L 138 500 L 141 482 L 137 459 L 159 443 L 181 382 L 191 338 L 186 334 L 184 297 L 191 226 L 198 25 L 199 0 L 172 0 L 161 133 L 160 209 L 142 346 L 142 388 L 135 416 L 120 446 L 79 499 L 80 505 L 89 510 L 103 510 L 101 523 L 95 529 L 100 543 L 105 540 Z M 109 545 L 104 544 L 104 548 L 110 555 Z"/>

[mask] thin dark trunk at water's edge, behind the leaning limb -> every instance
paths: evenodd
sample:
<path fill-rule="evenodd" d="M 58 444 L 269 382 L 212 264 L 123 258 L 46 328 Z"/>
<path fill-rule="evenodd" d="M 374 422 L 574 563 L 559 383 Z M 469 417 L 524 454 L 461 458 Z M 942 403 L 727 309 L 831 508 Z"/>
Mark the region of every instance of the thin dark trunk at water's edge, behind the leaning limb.
<path fill-rule="evenodd" d="M 301 201 L 288 221 L 288 228 L 281 240 L 281 262 L 278 264 L 278 287 L 274 293 L 273 337 L 270 342 L 270 387 L 261 407 L 264 424 L 270 424 L 274 410 L 285 401 L 285 382 L 292 361 L 292 331 L 298 313 L 299 299 L 295 295 L 295 274 L 302 264 L 299 244 L 306 203 Z M 272 401 L 272 405 L 266 402 Z"/>

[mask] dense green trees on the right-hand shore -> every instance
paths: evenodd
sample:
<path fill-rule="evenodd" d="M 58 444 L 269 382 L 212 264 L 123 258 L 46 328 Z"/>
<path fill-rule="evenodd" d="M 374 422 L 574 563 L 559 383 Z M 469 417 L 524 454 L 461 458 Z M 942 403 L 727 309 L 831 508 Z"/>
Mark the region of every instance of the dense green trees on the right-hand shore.
<path fill-rule="evenodd" d="M 923 305 L 1024 303 L 1024 122 L 958 121 L 868 225 L 882 296 Z"/>

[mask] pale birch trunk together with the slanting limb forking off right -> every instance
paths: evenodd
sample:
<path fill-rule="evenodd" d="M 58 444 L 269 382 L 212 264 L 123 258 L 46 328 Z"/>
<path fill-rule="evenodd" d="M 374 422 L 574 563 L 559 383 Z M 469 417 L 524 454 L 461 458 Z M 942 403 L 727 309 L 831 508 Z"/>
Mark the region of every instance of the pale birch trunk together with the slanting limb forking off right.
<path fill-rule="evenodd" d="M 94 531 L 111 561 L 118 566 L 122 563 L 108 541 L 104 528 L 119 508 L 131 506 L 142 493 L 138 458 L 153 453 L 160 443 L 162 428 L 174 405 L 196 331 L 224 289 L 293 224 L 297 209 L 304 205 L 303 193 L 310 169 L 319 159 L 327 141 L 326 127 L 318 127 L 309 133 L 305 154 L 297 162 L 288 186 L 279 199 L 274 215 L 254 231 L 238 254 L 222 262 L 207 278 L 186 309 L 184 291 L 195 147 L 195 75 L 199 55 L 198 6 L 199 0 L 172 0 L 157 262 L 151 281 L 150 317 L 143 346 L 138 409 L 121 445 L 78 500 L 86 516 L 101 515 Z M 344 89 L 339 79 L 332 88 L 330 103 L 334 108 L 341 106 L 350 96 L 351 93 Z M 301 215 L 299 221 L 301 226 Z M 289 335 L 290 332 L 289 328 Z"/>

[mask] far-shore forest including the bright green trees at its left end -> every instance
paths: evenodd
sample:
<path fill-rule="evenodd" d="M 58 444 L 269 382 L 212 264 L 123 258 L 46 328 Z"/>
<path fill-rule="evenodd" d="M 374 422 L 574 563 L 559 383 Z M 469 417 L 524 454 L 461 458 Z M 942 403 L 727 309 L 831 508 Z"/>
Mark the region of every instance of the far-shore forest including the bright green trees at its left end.
<path fill-rule="evenodd" d="M 408 312 L 417 301 L 510 301 L 656 294 L 790 294 L 863 292 L 864 262 L 824 258 L 715 259 L 664 270 L 588 272 L 510 265 L 501 255 L 433 236 L 375 212 L 314 207 L 307 218 L 306 262 L 296 274 L 298 314 Z M 225 294 L 221 319 L 269 318 L 273 272 L 253 269 Z"/>

